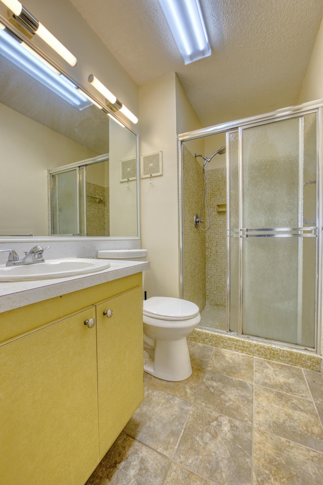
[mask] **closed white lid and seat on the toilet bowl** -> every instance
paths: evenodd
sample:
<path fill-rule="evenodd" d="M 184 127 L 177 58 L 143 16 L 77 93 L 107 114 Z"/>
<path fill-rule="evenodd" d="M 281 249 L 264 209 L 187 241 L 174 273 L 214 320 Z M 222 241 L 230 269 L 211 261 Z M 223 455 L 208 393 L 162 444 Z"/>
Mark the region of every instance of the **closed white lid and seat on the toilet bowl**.
<path fill-rule="evenodd" d="M 195 303 L 180 298 L 151 297 L 143 302 L 143 314 L 146 316 L 184 320 L 198 313 L 199 308 Z"/>

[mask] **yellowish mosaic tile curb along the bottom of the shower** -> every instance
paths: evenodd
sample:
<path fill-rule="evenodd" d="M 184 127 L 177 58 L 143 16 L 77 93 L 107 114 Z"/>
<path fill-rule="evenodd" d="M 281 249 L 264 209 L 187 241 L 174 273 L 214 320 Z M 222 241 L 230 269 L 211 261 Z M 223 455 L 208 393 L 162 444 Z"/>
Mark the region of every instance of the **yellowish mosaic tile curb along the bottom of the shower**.
<path fill-rule="evenodd" d="M 314 370 L 315 372 L 321 371 L 321 357 L 304 351 L 284 349 L 275 347 L 274 345 L 247 340 L 237 335 L 210 332 L 199 328 L 195 328 L 187 338 L 198 344 L 229 349 L 253 357 L 260 357 L 262 359 L 302 367 L 303 369 Z"/>

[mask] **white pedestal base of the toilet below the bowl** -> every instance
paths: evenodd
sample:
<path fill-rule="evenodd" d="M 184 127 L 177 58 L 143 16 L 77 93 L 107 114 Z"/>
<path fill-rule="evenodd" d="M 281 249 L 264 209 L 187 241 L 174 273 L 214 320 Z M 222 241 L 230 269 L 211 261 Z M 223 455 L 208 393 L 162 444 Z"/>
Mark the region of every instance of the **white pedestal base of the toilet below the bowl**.
<path fill-rule="evenodd" d="M 144 346 L 144 371 L 159 379 L 185 380 L 192 374 L 186 337 L 181 340 L 158 340 L 154 349 Z"/>

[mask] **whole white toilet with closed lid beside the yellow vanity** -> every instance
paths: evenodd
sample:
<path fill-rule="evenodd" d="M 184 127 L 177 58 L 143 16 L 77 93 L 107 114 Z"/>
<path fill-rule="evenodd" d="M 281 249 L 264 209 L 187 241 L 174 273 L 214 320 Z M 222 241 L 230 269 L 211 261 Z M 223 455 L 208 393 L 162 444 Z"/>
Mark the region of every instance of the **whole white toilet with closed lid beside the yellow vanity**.
<path fill-rule="evenodd" d="M 99 251 L 98 258 L 145 261 L 147 250 Z M 144 371 L 159 379 L 179 381 L 192 374 L 186 336 L 199 324 L 195 303 L 180 298 L 143 301 Z"/>

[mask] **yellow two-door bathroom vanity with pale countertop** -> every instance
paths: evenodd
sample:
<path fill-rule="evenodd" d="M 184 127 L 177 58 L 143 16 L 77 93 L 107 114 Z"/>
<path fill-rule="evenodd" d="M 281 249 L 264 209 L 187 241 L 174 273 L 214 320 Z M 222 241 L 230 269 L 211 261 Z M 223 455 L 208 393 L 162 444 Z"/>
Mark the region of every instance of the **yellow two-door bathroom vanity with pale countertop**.
<path fill-rule="evenodd" d="M 128 422 L 148 267 L 0 283 L 0 485 L 83 485 Z"/>

